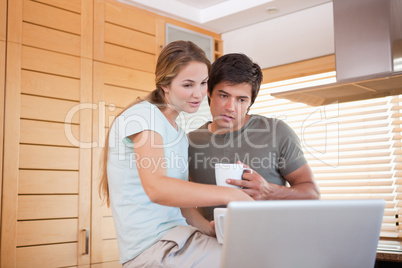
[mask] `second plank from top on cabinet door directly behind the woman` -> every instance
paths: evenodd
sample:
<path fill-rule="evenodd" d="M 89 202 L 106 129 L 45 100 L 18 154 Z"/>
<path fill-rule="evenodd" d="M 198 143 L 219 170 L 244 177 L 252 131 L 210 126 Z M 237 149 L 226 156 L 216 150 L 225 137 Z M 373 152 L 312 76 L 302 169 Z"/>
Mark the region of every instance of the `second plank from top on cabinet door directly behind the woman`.
<path fill-rule="evenodd" d="M 105 42 L 156 54 L 154 35 L 105 23 Z"/>

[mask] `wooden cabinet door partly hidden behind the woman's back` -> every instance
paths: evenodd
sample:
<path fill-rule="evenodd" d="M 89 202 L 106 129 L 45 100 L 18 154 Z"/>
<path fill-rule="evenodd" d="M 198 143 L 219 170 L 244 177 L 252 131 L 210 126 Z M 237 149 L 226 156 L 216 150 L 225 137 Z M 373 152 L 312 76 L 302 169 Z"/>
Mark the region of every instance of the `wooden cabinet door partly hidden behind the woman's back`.
<path fill-rule="evenodd" d="M 100 160 L 115 116 L 155 88 L 158 21 L 127 4 L 95 2 L 92 251 L 93 267 L 121 267 L 110 208 L 99 198 Z M 163 38 L 163 37 L 162 37 Z M 100 264 L 102 263 L 102 264 Z"/>

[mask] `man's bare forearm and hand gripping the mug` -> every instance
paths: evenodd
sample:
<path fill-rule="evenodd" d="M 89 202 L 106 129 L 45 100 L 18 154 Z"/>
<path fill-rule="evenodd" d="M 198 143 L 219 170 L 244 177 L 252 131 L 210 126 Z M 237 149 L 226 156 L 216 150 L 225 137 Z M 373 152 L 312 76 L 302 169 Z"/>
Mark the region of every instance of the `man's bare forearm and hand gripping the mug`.
<path fill-rule="evenodd" d="M 284 178 L 290 187 L 269 183 L 255 171 L 253 173 L 246 171 L 243 180 L 229 180 L 228 183 L 246 188 L 243 191 L 255 200 L 320 198 L 318 185 L 307 163 Z"/>

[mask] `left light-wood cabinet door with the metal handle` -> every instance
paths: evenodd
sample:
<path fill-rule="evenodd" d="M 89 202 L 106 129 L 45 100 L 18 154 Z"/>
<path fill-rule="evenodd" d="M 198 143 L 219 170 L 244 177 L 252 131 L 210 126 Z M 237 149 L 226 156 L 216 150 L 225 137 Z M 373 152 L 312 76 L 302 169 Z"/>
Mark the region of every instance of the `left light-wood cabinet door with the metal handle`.
<path fill-rule="evenodd" d="M 92 6 L 8 1 L 1 267 L 90 263 Z"/>

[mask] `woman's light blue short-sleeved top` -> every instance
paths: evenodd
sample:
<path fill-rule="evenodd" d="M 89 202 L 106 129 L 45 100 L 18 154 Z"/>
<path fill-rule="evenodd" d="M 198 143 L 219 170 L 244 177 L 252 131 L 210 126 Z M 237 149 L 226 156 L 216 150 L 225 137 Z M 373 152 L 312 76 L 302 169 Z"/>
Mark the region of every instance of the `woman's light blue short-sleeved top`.
<path fill-rule="evenodd" d="M 144 130 L 162 136 L 165 159 L 135 161 L 128 137 Z M 120 263 L 138 256 L 170 229 L 187 225 L 180 208 L 152 203 L 144 192 L 137 165 L 146 167 L 150 161 L 166 167 L 169 177 L 188 179 L 186 133 L 180 127 L 176 130 L 155 105 L 142 101 L 116 118 L 109 137 L 107 175 Z"/>

